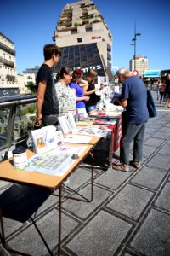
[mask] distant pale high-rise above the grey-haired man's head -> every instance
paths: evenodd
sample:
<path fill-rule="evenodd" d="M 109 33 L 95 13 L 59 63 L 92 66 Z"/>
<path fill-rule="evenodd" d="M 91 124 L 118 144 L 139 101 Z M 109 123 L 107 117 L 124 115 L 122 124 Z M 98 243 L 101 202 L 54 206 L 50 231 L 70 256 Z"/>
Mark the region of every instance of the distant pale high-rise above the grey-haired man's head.
<path fill-rule="evenodd" d="M 139 72 L 139 76 L 144 75 L 144 70 L 148 69 L 148 59 L 144 55 L 136 55 L 136 70 Z M 130 60 L 130 70 L 134 70 L 134 56 Z"/>

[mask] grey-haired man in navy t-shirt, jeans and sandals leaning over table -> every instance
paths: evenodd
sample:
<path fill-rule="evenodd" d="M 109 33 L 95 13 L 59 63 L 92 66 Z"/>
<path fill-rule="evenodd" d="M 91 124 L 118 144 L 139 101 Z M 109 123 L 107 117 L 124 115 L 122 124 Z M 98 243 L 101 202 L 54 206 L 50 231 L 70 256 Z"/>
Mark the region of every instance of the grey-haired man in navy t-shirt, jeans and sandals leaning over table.
<path fill-rule="evenodd" d="M 133 76 L 127 68 L 116 72 L 122 83 L 121 99 L 118 100 L 126 111 L 122 112 L 122 137 L 120 143 L 120 165 L 113 164 L 119 171 L 129 171 L 129 150 L 133 142 L 133 161 L 131 166 L 140 167 L 143 157 L 145 124 L 149 119 L 147 108 L 147 90 L 142 79 Z"/>

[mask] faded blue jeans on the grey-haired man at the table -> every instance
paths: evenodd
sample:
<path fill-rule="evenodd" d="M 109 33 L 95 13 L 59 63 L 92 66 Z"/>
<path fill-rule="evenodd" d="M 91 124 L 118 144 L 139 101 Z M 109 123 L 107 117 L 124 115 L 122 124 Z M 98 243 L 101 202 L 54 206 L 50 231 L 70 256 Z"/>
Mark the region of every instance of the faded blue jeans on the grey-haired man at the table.
<path fill-rule="evenodd" d="M 126 123 L 122 127 L 120 162 L 129 164 L 130 144 L 133 142 L 133 161 L 141 161 L 143 157 L 145 123 Z"/>

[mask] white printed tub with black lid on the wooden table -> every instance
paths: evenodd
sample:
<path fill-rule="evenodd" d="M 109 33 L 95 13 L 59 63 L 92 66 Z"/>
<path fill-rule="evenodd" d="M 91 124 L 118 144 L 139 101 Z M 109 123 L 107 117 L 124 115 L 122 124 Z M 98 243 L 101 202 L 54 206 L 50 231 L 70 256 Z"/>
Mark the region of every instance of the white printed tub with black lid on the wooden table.
<path fill-rule="evenodd" d="M 16 148 L 13 150 L 14 168 L 23 169 L 27 166 L 27 155 L 25 148 Z"/>

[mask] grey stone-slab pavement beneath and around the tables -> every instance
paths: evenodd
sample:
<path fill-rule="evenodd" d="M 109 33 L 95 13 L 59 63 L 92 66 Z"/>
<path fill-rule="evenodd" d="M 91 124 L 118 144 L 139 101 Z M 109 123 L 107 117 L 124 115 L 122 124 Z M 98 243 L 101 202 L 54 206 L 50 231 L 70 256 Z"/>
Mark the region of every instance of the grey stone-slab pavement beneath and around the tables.
<path fill-rule="evenodd" d="M 63 199 L 62 255 L 170 255 L 170 108 L 157 102 L 156 108 L 157 117 L 147 124 L 138 171 L 95 169 L 94 201 Z M 90 197 L 87 168 L 71 175 L 65 195 L 74 195 L 72 189 Z M 32 256 L 56 255 L 57 198 L 2 181 L 0 194 L 8 204 L 3 218 L 8 245 Z M 7 255 L 3 247 L 0 255 Z"/>

